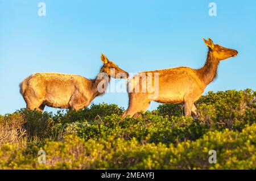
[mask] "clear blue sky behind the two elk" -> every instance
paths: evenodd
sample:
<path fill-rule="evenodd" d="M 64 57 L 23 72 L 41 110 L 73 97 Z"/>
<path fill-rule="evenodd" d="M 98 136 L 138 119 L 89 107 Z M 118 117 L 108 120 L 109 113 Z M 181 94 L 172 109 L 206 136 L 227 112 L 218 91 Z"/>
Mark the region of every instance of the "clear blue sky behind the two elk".
<path fill-rule="evenodd" d="M 38 16 L 38 3 L 46 16 Z M 216 2 L 217 16 L 209 16 Z M 25 107 L 19 82 L 35 72 L 96 77 L 102 52 L 130 73 L 203 66 L 203 37 L 237 49 L 209 90 L 256 90 L 256 1 L 0 0 L 0 114 Z M 205 94 L 204 93 L 204 94 Z M 127 107 L 126 93 L 94 103 Z M 150 109 L 158 104 L 151 103 Z M 46 108 L 55 112 L 56 109 Z"/>

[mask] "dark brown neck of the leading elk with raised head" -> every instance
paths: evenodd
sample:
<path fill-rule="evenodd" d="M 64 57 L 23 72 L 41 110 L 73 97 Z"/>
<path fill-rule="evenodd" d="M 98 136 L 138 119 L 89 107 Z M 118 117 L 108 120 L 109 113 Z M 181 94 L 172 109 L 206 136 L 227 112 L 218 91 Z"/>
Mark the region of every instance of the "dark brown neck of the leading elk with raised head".
<path fill-rule="evenodd" d="M 197 73 L 201 81 L 204 82 L 205 87 L 217 77 L 219 62 L 220 61 L 217 59 L 217 57 L 214 57 L 212 50 L 209 49 L 207 60 L 205 61 L 203 68 L 197 69 Z"/>

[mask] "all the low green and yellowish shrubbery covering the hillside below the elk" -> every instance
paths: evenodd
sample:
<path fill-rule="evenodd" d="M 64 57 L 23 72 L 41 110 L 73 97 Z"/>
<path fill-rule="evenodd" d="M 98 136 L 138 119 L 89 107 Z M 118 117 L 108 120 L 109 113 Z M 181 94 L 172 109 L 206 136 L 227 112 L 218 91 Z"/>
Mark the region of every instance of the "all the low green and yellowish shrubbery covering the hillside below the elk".
<path fill-rule="evenodd" d="M 183 104 L 138 119 L 114 104 L 0 115 L 0 169 L 256 169 L 256 91 L 208 92 L 196 107 L 193 118 Z"/>

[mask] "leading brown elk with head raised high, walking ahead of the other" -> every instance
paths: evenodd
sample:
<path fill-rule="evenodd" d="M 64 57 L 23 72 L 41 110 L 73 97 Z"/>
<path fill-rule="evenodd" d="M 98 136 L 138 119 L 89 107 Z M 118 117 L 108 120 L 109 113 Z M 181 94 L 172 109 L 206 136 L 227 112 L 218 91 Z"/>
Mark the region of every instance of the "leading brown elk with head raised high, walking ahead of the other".
<path fill-rule="evenodd" d="M 184 103 L 185 116 L 191 116 L 191 112 L 198 115 L 194 102 L 203 94 L 205 87 L 216 78 L 218 64 L 221 60 L 229 57 L 237 56 L 238 52 L 234 49 L 221 47 L 218 44 L 213 44 L 211 39 L 205 40 L 208 46 L 208 56 L 203 68 L 192 69 L 188 67 L 179 67 L 172 69 L 163 69 L 155 71 L 144 71 L 143 74 L 157 73 L 158 74 L 158 96 L 150 98 L 148 92 L 135 92 L 134 86 L 142 86 L 139 73 L 129 80 L 129 86 L 133 85 L 129 90 L 129 107 L 123 113 L 123 118 L 127 115 L 137 117 L 138 112 L 147 110 L 151 101 L 159 103 Z M 151 77 L 150 77 L 151 78 Z M 152 77 L 154 79 L 154 77 Z M 154 81 L 154 80 L 153 80 Z M 155 81 L 154 81 L 155 82 Z"/>

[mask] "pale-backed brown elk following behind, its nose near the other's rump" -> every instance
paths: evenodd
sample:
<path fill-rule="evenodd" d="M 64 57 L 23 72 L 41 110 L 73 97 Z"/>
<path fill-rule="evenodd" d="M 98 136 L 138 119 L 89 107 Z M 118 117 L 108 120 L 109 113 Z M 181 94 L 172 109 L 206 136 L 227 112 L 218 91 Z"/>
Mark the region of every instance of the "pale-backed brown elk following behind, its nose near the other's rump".
<path fill-rule="evenodd" d="M 30 75 L 20 83 L 20 94 L 27 104 L 27 109 L 43 111 L 45 106 L 49 106 L 80 110 L 89 106 L 96 96 L 105 93 L 110 77 L 129 77 L 126 71 L 109 61 L 104 54 L 101 54 L 101 60 L 104 65 L 95 79 L 60 73 Z"/>

